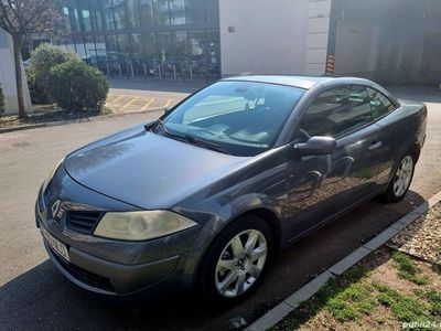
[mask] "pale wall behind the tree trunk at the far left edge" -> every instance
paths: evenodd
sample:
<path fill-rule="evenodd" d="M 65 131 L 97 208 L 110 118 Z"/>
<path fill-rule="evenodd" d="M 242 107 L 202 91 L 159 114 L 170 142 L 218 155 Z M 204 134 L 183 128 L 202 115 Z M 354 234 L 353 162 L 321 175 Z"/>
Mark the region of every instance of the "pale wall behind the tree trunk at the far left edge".
<path fill-rule="evenodd" d="M 28 83 L 22 70 L 23 94 L 26 110 L 32 109 L 31 97 L 28 89 Z M 17 102 L 17 83 L 13 60 L 13 46 L 11 36 L 0 29 L 0 84 L 3 89 L 6 107 L 4 114 L 17 114 L 19 106 Z"/>

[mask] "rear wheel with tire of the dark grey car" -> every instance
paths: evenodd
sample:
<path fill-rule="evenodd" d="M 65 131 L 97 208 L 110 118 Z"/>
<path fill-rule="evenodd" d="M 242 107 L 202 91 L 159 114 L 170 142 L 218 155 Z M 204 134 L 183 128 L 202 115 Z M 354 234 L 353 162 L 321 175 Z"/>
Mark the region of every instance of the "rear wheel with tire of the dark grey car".
<path fill-rule="evenodd" d="M 416 158 L 408 152 L 398 163 L 397 169 L 389 182 L 387 191 L 381 194 L 385 202 L 398 202 L 405 197 L 413 179 Z"/>

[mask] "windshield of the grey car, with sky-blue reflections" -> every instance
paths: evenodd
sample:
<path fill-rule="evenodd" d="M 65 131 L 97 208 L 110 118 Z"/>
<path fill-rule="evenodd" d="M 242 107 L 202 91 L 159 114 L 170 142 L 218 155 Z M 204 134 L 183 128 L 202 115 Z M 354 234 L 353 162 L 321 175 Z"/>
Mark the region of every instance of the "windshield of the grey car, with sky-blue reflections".
<path fill-rule="evenodd" d="M 218 82 L 176 106 L 155 132 L 230 154 L 255 156 L 273 146 L 303 94 L 290 86 Z"/>

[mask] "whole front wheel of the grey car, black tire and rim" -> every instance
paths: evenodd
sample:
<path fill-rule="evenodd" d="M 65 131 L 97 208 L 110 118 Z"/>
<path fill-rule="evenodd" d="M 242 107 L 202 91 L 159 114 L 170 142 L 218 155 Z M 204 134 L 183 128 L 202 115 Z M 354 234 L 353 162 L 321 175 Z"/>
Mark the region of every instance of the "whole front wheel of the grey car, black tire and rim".
<path fill-rule="evenodd" d="M 256 241 L 251 249 L 248 244 L 252 239 Z M 204 299 L 233 305 L 246 298 L 261 281 L 272 250 L 272 233 L 262 218 L 254 215 L 237 218 L 205 253 L 198 277 Z"/>

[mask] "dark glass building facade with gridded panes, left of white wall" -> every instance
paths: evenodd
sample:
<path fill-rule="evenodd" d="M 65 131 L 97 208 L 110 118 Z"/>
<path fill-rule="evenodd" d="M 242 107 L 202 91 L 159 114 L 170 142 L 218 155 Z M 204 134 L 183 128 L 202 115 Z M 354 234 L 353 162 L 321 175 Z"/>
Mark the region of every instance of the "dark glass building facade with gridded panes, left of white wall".
<path fill-rule="evenodd" d="M 54 44 L 110 76 L 217 78 L 218 0 L 61 1 L 67 34 Z"/>

